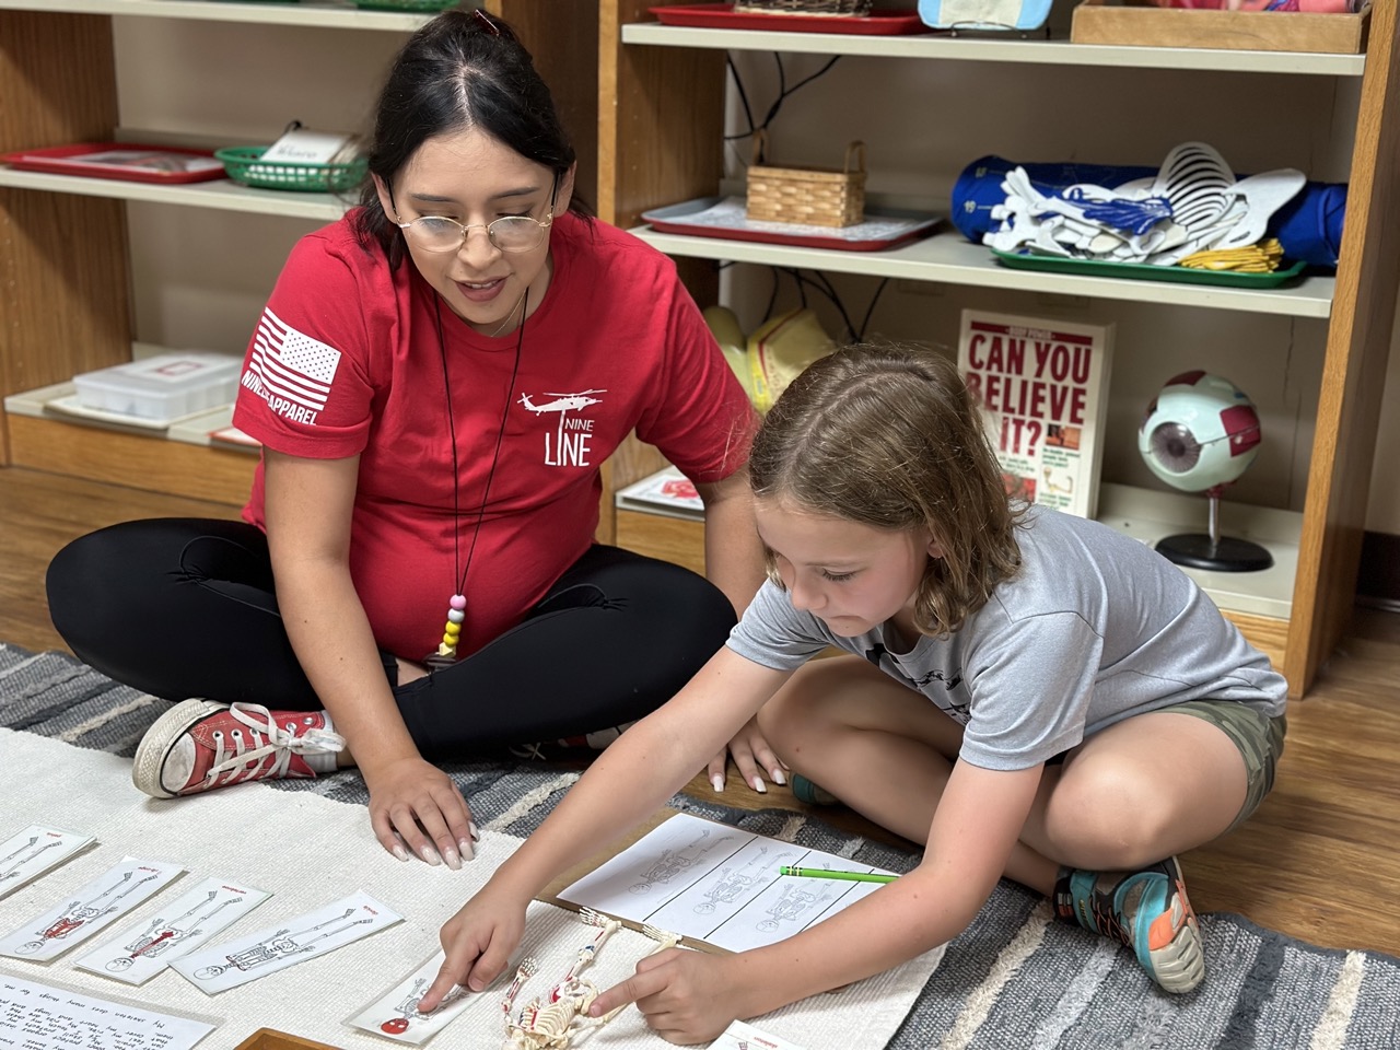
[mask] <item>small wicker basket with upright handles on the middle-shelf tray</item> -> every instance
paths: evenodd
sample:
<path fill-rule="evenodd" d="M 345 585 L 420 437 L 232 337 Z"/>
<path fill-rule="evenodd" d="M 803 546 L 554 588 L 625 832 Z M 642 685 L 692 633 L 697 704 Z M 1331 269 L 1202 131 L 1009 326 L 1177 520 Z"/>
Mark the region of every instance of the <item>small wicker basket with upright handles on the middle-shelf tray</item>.
<path fill-rule="evenodd" d="M 753 140 L 745 214 L 769 223 L 855 225 L 865 221 L 865 143 L 846 147 L 841 168 L 773 168 L 760 164 L 766 137 Z"/>

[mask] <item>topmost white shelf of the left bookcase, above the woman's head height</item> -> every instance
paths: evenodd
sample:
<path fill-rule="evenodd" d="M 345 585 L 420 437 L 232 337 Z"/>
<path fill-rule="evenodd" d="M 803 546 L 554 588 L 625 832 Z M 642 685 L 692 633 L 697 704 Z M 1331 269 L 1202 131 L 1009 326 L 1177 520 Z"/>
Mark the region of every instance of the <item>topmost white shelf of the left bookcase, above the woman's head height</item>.
<path fill-rule="evenodd" d="M 237 0 L 0 0 L 0 10 L 384 31 L 413 31 L 431 18 L 427 14 L 361 10 L 343 0 L 301 0 L 283 4 L 237 3 Z"/>

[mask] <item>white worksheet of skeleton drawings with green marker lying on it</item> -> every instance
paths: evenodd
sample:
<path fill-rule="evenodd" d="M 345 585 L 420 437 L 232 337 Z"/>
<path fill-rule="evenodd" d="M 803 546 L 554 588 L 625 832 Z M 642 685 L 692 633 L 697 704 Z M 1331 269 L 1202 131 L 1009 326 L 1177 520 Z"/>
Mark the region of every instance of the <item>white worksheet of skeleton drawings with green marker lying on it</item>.
<path fill-rule="evenodd" d="M 559 899 L 742 952 L 792 937 L 881 888 L 878 882 L 780 875 L 784 864 L 890 874 L 678 813 L 567 886 Z"/>

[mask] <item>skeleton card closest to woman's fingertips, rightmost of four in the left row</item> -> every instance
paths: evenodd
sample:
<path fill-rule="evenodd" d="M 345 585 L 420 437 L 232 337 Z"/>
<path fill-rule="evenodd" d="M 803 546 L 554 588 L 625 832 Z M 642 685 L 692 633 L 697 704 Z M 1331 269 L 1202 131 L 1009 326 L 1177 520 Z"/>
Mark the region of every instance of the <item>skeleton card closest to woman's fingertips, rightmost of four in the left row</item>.
<path fill-rule="evenodd" d="M 256 934 L 183 955 L 171 963 L 171 969 L 200 991 L 216 995 L 300 962 L 319 959 L 402 918 L 388 904 L 357 890 L 333 904 L 284 918 Z"/>

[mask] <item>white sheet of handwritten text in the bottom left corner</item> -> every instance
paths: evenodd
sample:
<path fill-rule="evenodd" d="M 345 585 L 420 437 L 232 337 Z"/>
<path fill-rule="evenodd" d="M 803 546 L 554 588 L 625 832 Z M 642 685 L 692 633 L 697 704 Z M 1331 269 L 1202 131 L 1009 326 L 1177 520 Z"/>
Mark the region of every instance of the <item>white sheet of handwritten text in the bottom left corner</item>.
<path fill-rule="evenodd" d="M 3 1050 L 189 1050 L 216 1028 L 0 972 Z"/>

